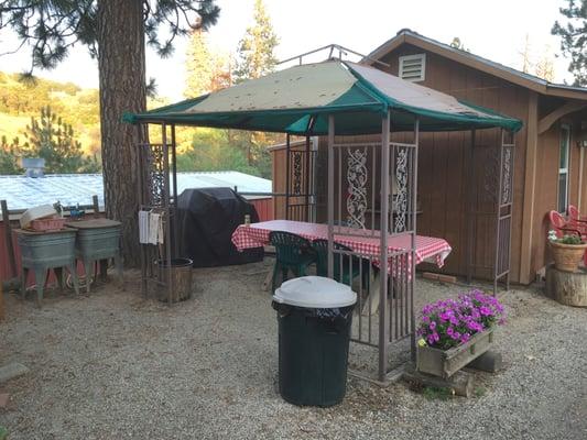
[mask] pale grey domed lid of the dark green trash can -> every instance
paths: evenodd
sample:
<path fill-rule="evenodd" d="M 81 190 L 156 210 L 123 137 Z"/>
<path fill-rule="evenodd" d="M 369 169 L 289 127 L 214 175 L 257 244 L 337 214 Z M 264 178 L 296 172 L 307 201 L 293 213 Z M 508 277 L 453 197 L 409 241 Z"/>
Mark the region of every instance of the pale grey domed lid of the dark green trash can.
<path fill-rule="evenodd" d="M 357 301 L 357 294 L 346 284 L 330 278 L 303 276 L 283 283 L 275 290 L 273 300 L 296 307 L 334 309 L 352 306 Z"/>

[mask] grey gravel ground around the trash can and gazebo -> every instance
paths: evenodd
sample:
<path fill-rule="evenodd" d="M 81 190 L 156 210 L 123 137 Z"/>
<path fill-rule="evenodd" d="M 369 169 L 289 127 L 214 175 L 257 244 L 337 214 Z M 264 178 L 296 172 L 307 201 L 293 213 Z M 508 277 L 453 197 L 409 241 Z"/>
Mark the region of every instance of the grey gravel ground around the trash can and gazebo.
<path fill-rule="evenodd" d="M 11 394 L 0 425 L 10 440 L 587 439 L 587 310 L 531 289 L 501 294 L 506 367 L 478 373 L 474 398 L 351 378 L 336 407 L 286 404 L 275 312 L 260 290 L 268 264 L 197 270 L 195 297 L 171 308 L 143 300 L 135 273 L 124 292 L 55 293 L 42 309 L 11 295 L 0 364 L 31 372 L 0 385 Z M 463 289 L 416 282 L 422 301 Z"/>

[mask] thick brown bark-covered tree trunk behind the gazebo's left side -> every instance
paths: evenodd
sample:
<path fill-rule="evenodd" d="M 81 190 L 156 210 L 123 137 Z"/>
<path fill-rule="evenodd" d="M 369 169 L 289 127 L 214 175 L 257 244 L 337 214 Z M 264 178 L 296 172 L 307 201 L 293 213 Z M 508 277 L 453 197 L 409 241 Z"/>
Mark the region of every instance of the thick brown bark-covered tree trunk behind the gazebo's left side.
<path fill-rule="evenodd" d="M 146 108 L 142 1 L 98 1 L 100 132 L 106 216 L 122 222 L 122 256 L 139 263 L 139 209 L 135 145 L 144 131 L 123 123 L 122 113 Z"/>

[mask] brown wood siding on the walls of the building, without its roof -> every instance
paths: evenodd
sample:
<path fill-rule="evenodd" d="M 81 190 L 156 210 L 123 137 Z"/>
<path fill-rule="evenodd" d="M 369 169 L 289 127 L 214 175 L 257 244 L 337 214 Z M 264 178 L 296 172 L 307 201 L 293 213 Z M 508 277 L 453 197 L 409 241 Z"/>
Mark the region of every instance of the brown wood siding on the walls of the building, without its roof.
<path fill-rule="evenodd" d="M 388 54 L 381 61 L 390 64 L 384 70 L 398 75 L 401 55 L 426 53 L 417 47 L 404 44 Z M 515 179 L 513 200 L 513 221 L 511 240 L 511 280 L 533 280 L 534 274 L 550 261 L 546 249 L 546 232 L 548 230 L 547 212 L 556 207 L 558 180 L 558 147 L 559 124 L 556 122 L 550 130 L 537 135 L 535 174 L 533 169 L 526 173 L 528 120 L 530 110 L 529 89 L 513 85 L 503 79 L 485 74 L 483 72 L 466 67 L 456 62 L 443 58 L 433 53 L 426 53 L 425 80 L 423 86 L 437 89 L 458 99 L 493 109 L 524 122 L 524 128 L 517 133 L 515 142 Z M 539 119 L 565 103 L 562 98 L 539 96 Z M 570 145 L 569 191 L 570 201 L 578 205 L 579 183 L 579 148 L 576 146 L 580 122 L 587 121 L 587 111 L 570 114 L 567 120 L 573 125 Z M 586 129 L 583 129 L 584 131 Z M 587 134 L 583 134 L 587 136 Z M 365 140 L 365 136 L 361 138 Z M 371 138 L 372 140 L 373 138 Z M 355 138 L 355 140 L 357 140 Z M 349 138 L 349 142 L 352 138 Z M 481 130 L 477 132 L 478 145 L 498 145 L 500 142 L 498 130 Z M 471 167 L 470 133 L 422 133 L 418 155 L 418 200 L 422 215 L 417 217 L 420 234 L 445 238 L 453 246 L 453 253 L 446 261 L 442 272 L 465 275 L 467 268 L 467 174 L 472 168 L 478 176 L 486 172 L 487 163 L 481 160 Z M 320 156 L 326 157 L 326 142 L 320 139 Z M 285 190 L 285 155 L 274 151 L 274 182 L 275 191 Z M 587 151 L 585 152 L 587 156 Z M 532 162 L 532 161 L 531 161 Z M 583 168 L 581 211 L 587 216 L 587 157 Z M 319 174 L 326 179 L 326 172 Z M 524 204 L 525 178 L 534 177 L 534 197 Z M 325 182 L 318 183 L 323 188 Z M 531 197 L 531 191 L 528 193 Z M 479 194 L 476 197 L 480 197 Z M 324 200 L 322 200 L 324 202 Z M 280 208 L 282 206 L 282 208 Z M 284 201 L 274 204 L 275 218 L 284 216 Z M 522 224 L 522 212 L 531 207 L 532 218 L 529 224 Z M 282 212 L 283 211 L 283 212 Z M 324 212 L 323 212 L 324 211 Z M 326 208 L 318 206 L 318 221 L 325 220 Z M 525 251 L 522 252 L 522 235 L 525 228 L 532 224 L 531 233 L 526 234 Z M 530 235 L 530 241 L 528 239 Z M 494 248 L 494 220 L 477 220 L 475 252 L 478 260 L 490 265 Z M 521 258 L 531 260 L 529 265 L 521 267 Z M 423 268 L 438 271 L 434 265 Z M 521 273 L 523 268 L 523 274 Z M 489 273 L 478 271 L 476 276 L 487 277 Z"/>

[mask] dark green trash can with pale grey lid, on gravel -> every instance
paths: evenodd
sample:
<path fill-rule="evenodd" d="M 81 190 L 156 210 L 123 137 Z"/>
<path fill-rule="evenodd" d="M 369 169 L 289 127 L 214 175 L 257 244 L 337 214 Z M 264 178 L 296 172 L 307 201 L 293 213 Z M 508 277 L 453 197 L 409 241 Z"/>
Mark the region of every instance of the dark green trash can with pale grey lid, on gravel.
<path fill-rule="evenodd" d="M 343 400 L 356 301 L 349 286 L 320 276 L 290 279 L 275 290 L 279 385 L 286 402 L 331 406 Z"/>

